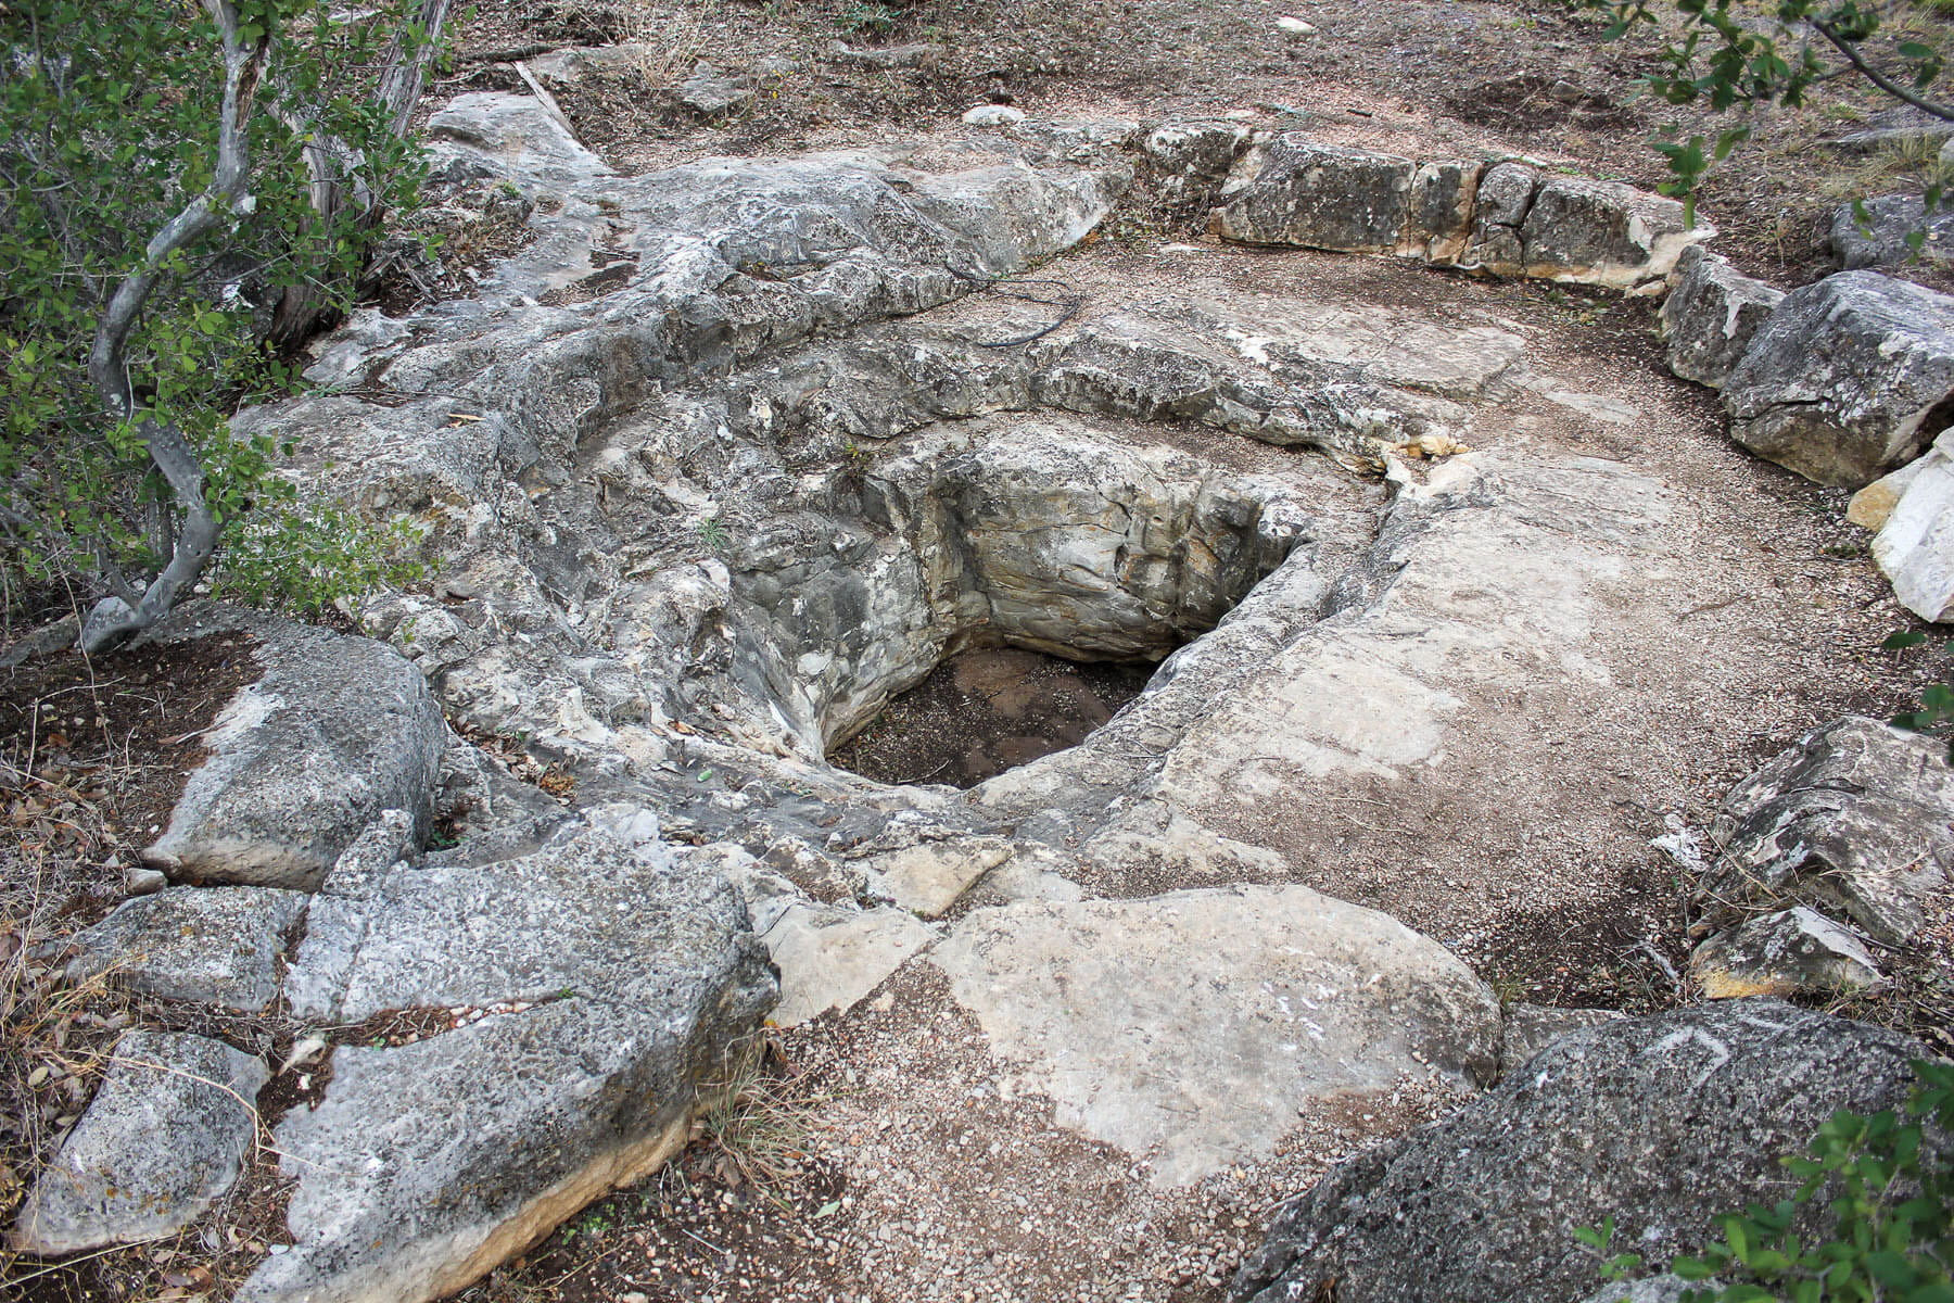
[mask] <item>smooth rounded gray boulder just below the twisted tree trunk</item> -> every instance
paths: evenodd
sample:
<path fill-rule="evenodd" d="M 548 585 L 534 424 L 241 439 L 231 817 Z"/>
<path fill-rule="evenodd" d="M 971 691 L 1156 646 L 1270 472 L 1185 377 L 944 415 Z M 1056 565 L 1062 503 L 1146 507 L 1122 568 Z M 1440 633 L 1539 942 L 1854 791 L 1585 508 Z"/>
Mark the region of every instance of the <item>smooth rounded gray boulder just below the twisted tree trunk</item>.
<path fill-rule="evenodd" d="M 447 721 L 397 651 L 219 608 L 172 619 L 166 637 L 209 621 L 250 629 L 264 678 L 205 735 L 211 754 L 143 852 L 149 865 L 178 883 L 313 891 L 381 811 L 428 826 Z"/>

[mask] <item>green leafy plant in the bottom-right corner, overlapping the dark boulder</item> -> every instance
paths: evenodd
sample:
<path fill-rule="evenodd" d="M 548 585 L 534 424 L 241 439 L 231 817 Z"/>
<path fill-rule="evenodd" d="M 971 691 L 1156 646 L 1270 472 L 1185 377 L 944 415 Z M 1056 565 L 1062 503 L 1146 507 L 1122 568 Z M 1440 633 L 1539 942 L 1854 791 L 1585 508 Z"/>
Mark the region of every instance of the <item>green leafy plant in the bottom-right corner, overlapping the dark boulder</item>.
<path fill-rule="evenodd" d="M 1901 1110 L 1839 1110 L 1805 1155 L 1784 1158 L 1802 1182 L 1792 1198 L 1720 1217 L 1720 1240 L 1671 1260 L 1671 1274 L 1698 1285 L 1682 1303 L 1954 1303 L 1954 1063 L 1913 1071 Z M 1823 1231 L 1800 1233 L 1800 1213 L 1821 1198 Z M 1602 1223 L 1575 1235 L 1606 1252 L 1608 1233 Z"/>

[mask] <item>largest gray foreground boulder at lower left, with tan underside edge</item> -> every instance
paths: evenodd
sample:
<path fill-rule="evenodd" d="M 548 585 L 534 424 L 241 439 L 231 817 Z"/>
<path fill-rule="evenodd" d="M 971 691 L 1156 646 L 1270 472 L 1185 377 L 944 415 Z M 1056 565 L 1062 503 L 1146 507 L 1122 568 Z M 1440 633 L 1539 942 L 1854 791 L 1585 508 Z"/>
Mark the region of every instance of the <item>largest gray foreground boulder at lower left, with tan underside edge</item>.
<path fill-rule="evenodd" d="M 293 1248 L 240 1303 L 440 1297 L 684 1145 L 778 988 L 739 891 L 657 826 L 588 811 L 543 850 L 403 865 L 315 920 L 295 973 L 330 969 L 311 988 L 334 1016 L 479 1014 L 334 1053 L 324 1102 L 277 1127 Z"/>

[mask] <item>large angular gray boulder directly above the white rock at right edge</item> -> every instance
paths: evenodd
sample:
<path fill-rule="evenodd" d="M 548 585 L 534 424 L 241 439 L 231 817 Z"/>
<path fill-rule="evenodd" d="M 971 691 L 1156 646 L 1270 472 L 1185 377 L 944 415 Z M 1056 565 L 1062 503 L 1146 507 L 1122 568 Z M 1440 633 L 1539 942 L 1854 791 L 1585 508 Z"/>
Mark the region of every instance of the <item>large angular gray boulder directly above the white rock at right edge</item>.
<path fill-rule="evenodd" d="M 1954 424 L 1954 297 L 1878 272 L 1794 289 L 1723 385 L 1731 438 L 1858 488 Z"/>

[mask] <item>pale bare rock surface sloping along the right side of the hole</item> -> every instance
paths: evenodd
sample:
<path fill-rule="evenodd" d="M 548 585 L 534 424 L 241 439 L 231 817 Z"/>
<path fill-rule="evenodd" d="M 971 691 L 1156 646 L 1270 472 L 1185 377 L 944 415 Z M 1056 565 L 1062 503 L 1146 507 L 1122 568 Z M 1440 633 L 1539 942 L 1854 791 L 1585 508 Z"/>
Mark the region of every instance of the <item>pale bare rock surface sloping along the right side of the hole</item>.
<path fill-rule="evenodd" d="M 1454 457 L 1393 506 L 1374 598 L 1251 668 L 1167 758 L 1159 791 L 1249 809 L 1297 781 L 1395 781 L 1448 762 L 1473 688 L 1606 682 L 1591 635 L 1669 510 L 1620 463 Z"/>

